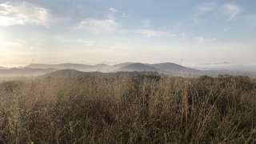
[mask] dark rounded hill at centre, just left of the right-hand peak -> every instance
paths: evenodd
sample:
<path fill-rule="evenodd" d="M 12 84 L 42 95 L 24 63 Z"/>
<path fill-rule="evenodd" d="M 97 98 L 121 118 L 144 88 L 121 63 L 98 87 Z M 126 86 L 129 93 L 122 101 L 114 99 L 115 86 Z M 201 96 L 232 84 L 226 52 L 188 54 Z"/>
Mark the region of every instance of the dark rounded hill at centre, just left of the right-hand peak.
<path fill-rule="evenodd" d="M 128 66 L 124 66 L 115 71 L 161 71 L 161 70 L 153 66 L 148 66 L 143 63 L 132 63 Z"/>

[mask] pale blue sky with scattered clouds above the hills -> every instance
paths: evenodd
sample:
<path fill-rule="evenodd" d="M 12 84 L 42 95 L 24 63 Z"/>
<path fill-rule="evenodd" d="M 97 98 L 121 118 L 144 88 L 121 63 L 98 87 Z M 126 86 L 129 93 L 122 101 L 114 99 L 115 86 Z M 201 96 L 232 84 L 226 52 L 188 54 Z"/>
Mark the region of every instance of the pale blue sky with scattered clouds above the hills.
<path fill-rule="evenodd" d="M 0 66 L 256 63 L 255 0 L 0 0 Z"/>

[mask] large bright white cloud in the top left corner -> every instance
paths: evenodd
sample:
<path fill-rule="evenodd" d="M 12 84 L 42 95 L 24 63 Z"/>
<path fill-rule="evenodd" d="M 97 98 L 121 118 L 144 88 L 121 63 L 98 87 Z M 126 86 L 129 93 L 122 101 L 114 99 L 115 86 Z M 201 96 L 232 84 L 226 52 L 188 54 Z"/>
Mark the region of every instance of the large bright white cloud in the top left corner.
<path fill-rule="evenodd" d="M 0 3 L 0 26 L 41 25 L 51 22 L 49 10 L 28 2 Z"/>

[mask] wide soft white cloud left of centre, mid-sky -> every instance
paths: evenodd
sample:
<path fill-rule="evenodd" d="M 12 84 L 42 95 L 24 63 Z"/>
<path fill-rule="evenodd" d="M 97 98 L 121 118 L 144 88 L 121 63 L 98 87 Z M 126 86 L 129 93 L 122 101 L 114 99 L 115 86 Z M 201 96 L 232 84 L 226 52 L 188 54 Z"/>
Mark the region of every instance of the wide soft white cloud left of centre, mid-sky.
<path fill-rule="evenodd" d="M 118 23 L 112 19 L 86 18 L 77 25 L 78 30 L 87 30 L 94 34 L 113 32 L 117 28 Z"/>

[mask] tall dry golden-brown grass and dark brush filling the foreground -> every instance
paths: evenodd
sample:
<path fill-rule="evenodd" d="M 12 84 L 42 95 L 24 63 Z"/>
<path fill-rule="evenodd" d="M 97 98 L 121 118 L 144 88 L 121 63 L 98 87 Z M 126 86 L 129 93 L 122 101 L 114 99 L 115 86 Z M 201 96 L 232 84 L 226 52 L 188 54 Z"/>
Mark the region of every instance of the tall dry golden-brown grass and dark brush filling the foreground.
<path fill-rule="evenodd" d="M 255 143 L 247 77 L 97 74 L 0 84 L 0 143 Z"/>

